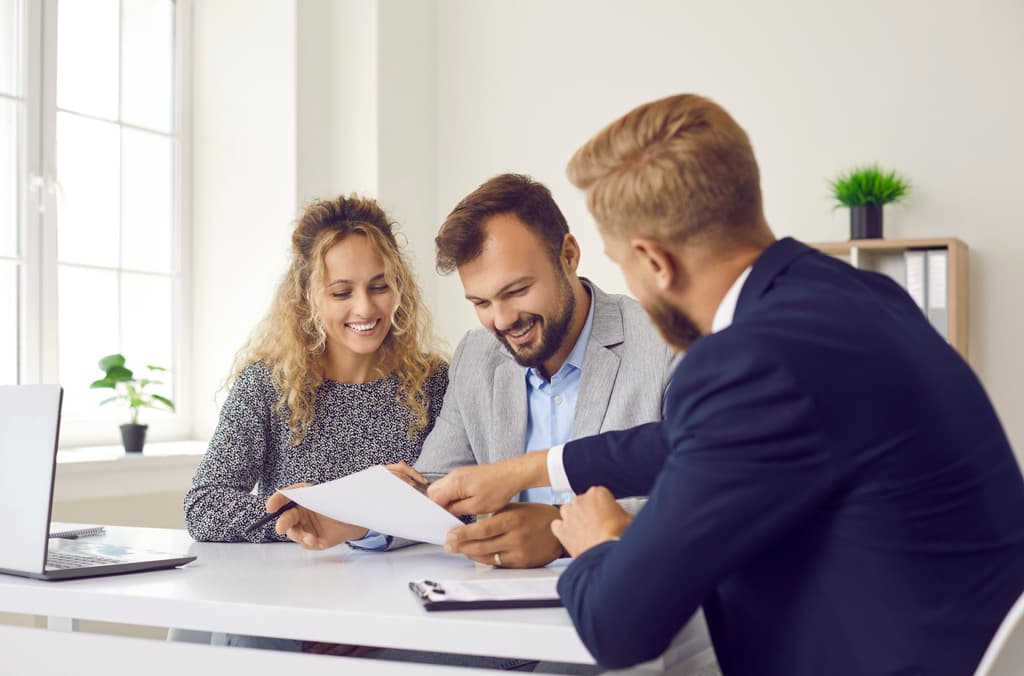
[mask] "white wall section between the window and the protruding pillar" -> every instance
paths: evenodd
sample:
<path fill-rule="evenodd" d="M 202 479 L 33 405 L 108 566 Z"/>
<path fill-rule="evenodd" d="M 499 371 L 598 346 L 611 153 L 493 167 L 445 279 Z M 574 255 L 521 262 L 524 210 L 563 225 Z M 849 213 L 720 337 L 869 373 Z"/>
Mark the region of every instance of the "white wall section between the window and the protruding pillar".
<path fill-rule="evenodd" d="M 296 209 L 296 17 L 291 2 L 197 2 L 193 56 L 193 419 L 263 315 Z"/>

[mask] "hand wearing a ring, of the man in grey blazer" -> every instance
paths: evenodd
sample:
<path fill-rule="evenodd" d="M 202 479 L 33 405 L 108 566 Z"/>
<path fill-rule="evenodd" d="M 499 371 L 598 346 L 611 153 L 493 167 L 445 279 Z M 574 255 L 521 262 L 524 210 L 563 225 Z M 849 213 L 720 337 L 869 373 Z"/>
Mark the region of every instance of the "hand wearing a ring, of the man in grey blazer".
<path fill-rule="evenodd" d="M 512 503 L 487 518 L 449 533 L 444 550 L 490 565 L 500 560 L 503 567 L 509 568 L 547 565 L 562 553 L 562 546 L 551 533 L 551 522 L 556 518 L 558 508 L 552 505 Z"/>

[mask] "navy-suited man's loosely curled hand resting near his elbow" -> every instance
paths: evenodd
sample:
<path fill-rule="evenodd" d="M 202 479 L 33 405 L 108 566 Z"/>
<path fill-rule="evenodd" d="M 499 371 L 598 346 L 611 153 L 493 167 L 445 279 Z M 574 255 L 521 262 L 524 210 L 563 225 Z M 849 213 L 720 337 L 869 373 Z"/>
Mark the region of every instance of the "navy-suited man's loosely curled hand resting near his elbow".
<path fill-rule="evenodd" d="M 573 557 L 608 540 L 617 540 L 633 516 L 618 506 L 603 485 L 595 485 L 562 505 L 561 518 L 551 522 L 551 532 Z"/>

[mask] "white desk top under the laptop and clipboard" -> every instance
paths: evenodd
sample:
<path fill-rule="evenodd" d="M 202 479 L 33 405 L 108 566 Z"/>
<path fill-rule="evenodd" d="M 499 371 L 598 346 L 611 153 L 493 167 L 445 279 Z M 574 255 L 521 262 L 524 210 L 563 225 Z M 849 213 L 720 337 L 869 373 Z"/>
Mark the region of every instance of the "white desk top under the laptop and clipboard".
<path fill-rule="evenodd" d="M 309 552 L 291 543 L 196 543 L 183 531 L 109 526 L 103 540 L 188 551 L 189 565 L 43 582 L 0 576 L 0 610 L 158 627 L 593 664 L 563 608 L 423 609 L 410 580 L 521 578 L 433 545 Z"/>

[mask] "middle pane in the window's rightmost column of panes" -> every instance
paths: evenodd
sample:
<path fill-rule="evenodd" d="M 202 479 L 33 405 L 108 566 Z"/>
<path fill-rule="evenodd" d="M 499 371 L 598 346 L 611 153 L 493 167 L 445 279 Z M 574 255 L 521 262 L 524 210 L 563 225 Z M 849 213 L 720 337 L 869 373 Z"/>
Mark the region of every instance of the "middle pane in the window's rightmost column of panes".
<path fill-rule="evenodd" d="M 121 264 L 170 272 L 173 141 L 134 129 L 121 134 Z"/>

